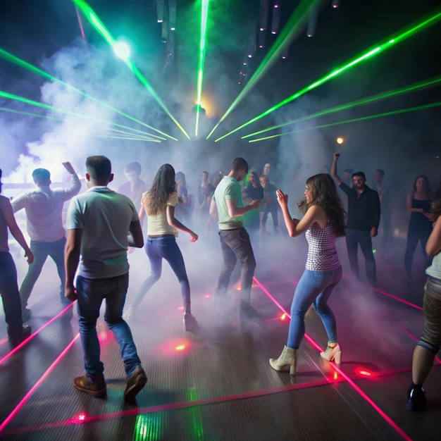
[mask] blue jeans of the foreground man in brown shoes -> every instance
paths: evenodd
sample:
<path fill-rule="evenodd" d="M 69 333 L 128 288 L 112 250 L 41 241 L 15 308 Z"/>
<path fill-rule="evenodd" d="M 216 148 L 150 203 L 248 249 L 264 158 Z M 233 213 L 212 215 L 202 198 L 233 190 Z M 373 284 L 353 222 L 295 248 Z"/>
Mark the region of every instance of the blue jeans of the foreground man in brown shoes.
<path fill-rule="evenodd" d="M 131 375 L 141 364 L 130 328 L 122 317 L 128 284 L 128 274 L 106 279 L 87 279 L 81 275 L 77 276 L 78 323 L 82 349 L 85 353 L 85 371 L 89 375 L 101 375 L 104 371 L 104 365 L 99 359 L 97 337 L 97 318 L 104 299 L 106 299 L 104 320 L 120 346 L 125 373 Z"/>

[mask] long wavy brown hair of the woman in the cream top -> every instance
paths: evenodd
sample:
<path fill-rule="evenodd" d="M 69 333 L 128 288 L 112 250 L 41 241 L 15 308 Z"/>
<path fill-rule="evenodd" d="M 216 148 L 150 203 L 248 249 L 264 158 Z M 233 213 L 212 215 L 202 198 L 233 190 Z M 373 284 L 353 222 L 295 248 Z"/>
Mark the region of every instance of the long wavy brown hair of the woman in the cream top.
<path fill-rule="evenodd" d="M 149 216 L 166 209 L 170 194 L 176 191 L 175 169 L 170 164 L 163 164 L 156 172 L 151 189 L 142 198 L 142 205 Z"/>

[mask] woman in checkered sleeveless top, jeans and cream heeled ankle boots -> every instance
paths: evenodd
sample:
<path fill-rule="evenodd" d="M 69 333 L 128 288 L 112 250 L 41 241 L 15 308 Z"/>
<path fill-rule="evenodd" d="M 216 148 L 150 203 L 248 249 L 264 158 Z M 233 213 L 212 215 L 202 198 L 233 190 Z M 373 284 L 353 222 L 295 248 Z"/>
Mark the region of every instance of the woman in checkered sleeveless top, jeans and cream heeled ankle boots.
<path fill-rule="evenodd" d="M 325 173 L 306 180 L 305 199 L 297 205 L 304 214 L 302 220 L 292 218 L 288 209 L 288 195 L 277 190 L 277 200 L 290 237 L 306 232 L 308 259 L 306 268 L 294 292 L 291 305 L 291 323 L 288 340 L 278 359 L 270 359 L 276 371 L 295 374 L 296 353 L 305 333 L 304 317 L 313 305 L 320 316 L 326 333 L 328 347 L 321 352 L 323 359 L 340 364 L 342 350 L 337 344 L 335 316 L 328 306 L 328 299 L 335 285 L 342 278 L 342 267 L 335 249 L 337 237 L 344 236 L 344 212 L 333 178 Z"/>

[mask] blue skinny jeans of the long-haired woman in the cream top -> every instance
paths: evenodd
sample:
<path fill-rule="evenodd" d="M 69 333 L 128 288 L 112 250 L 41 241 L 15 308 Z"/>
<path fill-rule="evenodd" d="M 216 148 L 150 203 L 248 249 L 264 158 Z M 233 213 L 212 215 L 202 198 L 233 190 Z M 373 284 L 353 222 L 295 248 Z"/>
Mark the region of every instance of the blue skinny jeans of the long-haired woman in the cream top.
<path fill-rule="evenodd" d="M 185 312 L 190 313 L 190 282 L 188 281 L 187 271 L 185 271 L 184 258 L 182 257 L 175 237 L 147 237 L 144 248 L 149 257 L 151 273 L 149 277 L 144 280 L 135 295 L 133 306 L 138 306 L 142 302 L 145 294 L 147 294 L 150 288 L 161 278 L 162 259 L 166 259 L 173 273 L 175 273 L 179 280 Z"/>

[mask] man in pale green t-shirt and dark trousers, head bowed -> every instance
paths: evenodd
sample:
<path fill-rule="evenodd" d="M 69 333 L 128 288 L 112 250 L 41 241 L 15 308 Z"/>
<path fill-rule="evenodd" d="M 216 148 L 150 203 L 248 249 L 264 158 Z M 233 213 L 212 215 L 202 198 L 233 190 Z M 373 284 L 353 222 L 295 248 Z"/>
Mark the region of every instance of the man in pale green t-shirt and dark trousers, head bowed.
<path fill-rule="evenodd" d="M 231 171 L 219 182 L 211 199 L 210 214 L 218 213 L 219 239 L 223 256 L 221 273 L 215 291 L 218 302 L 228 290 L 228 283 L 237 259 L 241 263 L 240 275 L 240 316 L 241 318 L 256 319 L 259 313 L 251 306 L 251 285 L 253 282 L 256 259 L 251 247 L 247 230 L 243 227 L 241 216 L 248 211 L 259 208 L 259 199 L 243 206 L 240 180 L 248 173 L 248 163 L 243 158 L 232 161 Z"/>

